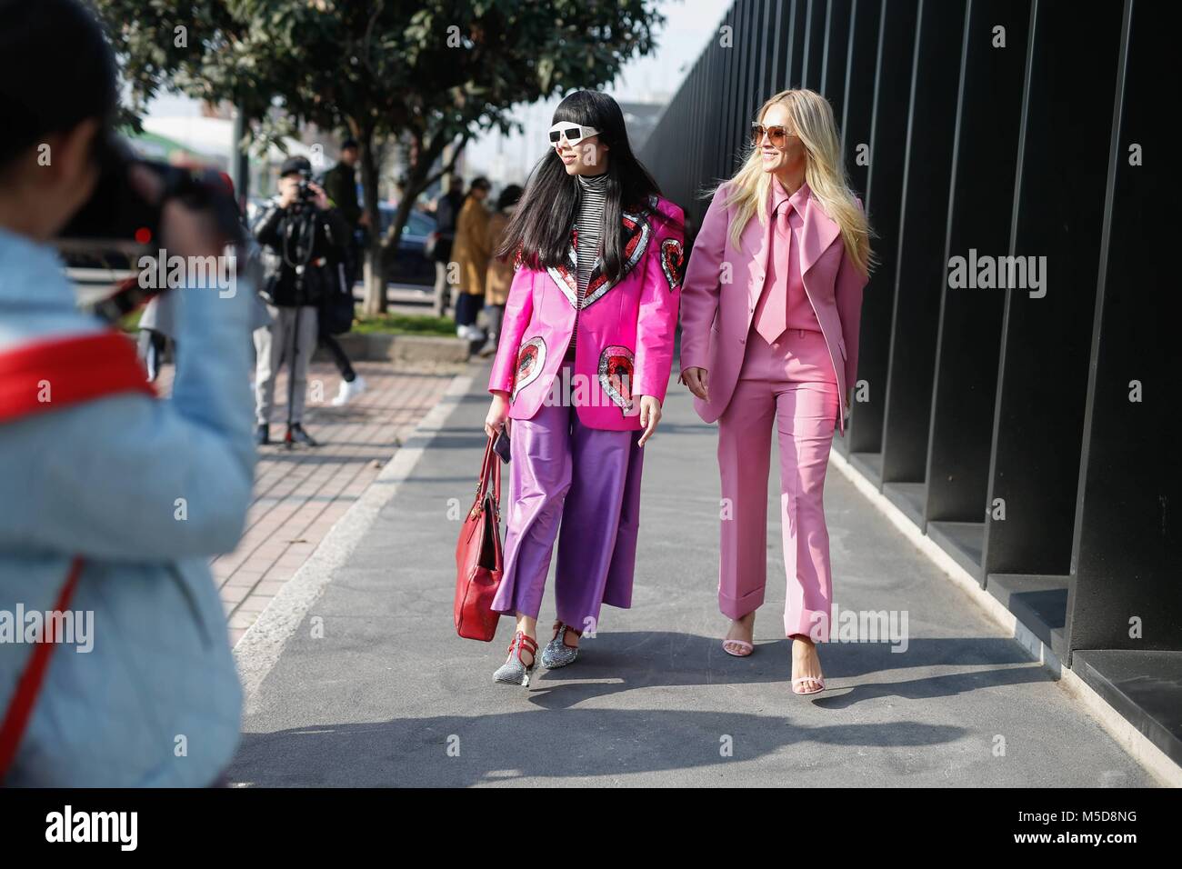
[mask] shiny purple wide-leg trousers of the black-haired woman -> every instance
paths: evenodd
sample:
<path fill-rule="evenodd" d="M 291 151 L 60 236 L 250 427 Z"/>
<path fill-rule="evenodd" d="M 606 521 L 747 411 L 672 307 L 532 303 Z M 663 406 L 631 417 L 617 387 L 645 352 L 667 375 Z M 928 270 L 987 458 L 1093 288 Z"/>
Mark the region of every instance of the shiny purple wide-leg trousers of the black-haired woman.
<path fill-rule="evenodd" d="M 569 381 L 561 370 L 557 377 Z M 556 538 L 560 621 L 595 633 L 602 604 L 631 605 L 639 434 L 587 428 L 569 395 L 544 403 L 531 420 L 512 421 L 505 571 L 494 610 L 538 617 Z"/>

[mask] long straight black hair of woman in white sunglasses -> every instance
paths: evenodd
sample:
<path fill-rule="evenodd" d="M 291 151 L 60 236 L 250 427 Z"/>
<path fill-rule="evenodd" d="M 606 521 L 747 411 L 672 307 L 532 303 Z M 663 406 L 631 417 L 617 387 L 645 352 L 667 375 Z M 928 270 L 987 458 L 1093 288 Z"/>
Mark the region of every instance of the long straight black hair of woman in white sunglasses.
<path fill-rule="evenodd" d="M 625 241 L 621 212 L 645 209 L 649 196 L 660 196 L 661 188 L 632 154 L 624 114 L 606 93 L 574 91 L 554 110 L 551 123 L 559 122 L 599 130 L 599 141 L 608 145 L 608 182 L 599 238 L 603 239 L 603 273 L 609 280 L 617 280 L 623 271 Z M 551 147 L 530 173 L 521 203 L 505 228 L 505 240 L 496 255 L 513 257 L 520 251 L 522 264 L 531 268 L 565 262 L 578 200 L 578 179 L 566 174 L 558 151 Z"/>

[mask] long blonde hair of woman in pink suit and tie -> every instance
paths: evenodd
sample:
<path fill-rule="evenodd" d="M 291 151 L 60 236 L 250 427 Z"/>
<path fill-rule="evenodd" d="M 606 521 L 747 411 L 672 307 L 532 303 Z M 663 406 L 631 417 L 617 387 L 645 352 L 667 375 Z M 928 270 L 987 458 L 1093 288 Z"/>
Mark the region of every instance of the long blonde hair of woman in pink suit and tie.
<path fill-rule="evenodd" d="M 858 202 L 850 189 L 845 167 L 842 163 L 842 144 L 837 136 L 837 122 L 833 109 L 817 91 L 795 89 L 780 91 L 760 106 L 755 118 L 760 122 L 764 115 L 777 103 L 784 103 L 792 118 L 792 132 L 800 137 L 807 153 L 805 181 L 812 195 L 821 208 L 832 218 L 842 231 L 842 244 L 853 265 L 863 274 L 868 274 L 875 264 L 870 249 L 870 223 L 866 215 L 858 208 Z M 728 182 L 729 190 L 723 205 L 738 205 L 739 209 L 730 222 L 730 244 L 739 249 L 739 238 L 747 227 L 752 215 L 759 222 L 767 225 L 768 190 L 772 187 L 772 174 L 764 171 L 759 148 L 753 143 L 747 145 L 747 155 L 739 171 Z M 719 184 L 721 187 L 722 184 Z"/>

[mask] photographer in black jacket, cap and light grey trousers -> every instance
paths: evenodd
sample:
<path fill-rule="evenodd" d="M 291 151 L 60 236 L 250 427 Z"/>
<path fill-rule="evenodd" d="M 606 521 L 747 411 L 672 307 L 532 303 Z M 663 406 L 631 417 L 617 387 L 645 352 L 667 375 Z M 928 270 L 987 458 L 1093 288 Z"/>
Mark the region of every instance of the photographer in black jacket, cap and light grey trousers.
<path fill-rule="evenodd" d="M 264 248 L 262 296 L 274 322 L 254 333 L 255 443 L 271 442 L 271 409 L 275 374 L 290 364 L 288 446 L 316 441 L 304 430 L 307 365 L 317 345 L 317 307 L 340 280 L 337 264 L 345 259 L 349 223 L 330 207 L 324 190 L 311 181 L 304 157 L 287 160 L 279 170 L 279 195 L 259 216 L 254 235 Z"/>

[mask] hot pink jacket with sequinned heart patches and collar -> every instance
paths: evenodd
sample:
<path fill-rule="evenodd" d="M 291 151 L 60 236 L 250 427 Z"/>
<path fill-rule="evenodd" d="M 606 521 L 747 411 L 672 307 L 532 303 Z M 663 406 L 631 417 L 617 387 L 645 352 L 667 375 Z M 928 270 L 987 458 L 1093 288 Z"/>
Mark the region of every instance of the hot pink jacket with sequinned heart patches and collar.
<path fill-rule="evenodd" d="M 571 377 L 579 421 L 617 432 L 641 428 L 639 396 L 664 402 L 684 242 L 682 209 L 658 196 L 641 212 L 625 212 L 622 222 L 628 234 L 623 273 L 612 283 L 596 262 L 578 314 Z M 561 395 L 556 375 L 571 342 L 578 301 L 574 245 L 572 229 L 565 264 L 545 270 L 520 265 L 513 274 L 488 378 L 489 391 L 509 393 L 511 419 L 528 420 L 547 397 Z"/>

